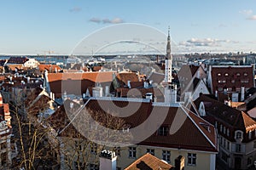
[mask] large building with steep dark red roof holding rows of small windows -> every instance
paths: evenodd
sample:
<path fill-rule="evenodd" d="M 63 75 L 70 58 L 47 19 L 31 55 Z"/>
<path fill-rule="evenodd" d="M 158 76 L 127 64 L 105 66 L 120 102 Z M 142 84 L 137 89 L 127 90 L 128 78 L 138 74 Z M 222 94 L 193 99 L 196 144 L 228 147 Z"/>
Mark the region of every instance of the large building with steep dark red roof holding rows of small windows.
<path fill-rule="evenodd" d="M 243 101 L 245 91 L 254 87 L 253 66 L 212 65 L 207 84 L 212 94 L 230 94 L 232 101 Z"/>

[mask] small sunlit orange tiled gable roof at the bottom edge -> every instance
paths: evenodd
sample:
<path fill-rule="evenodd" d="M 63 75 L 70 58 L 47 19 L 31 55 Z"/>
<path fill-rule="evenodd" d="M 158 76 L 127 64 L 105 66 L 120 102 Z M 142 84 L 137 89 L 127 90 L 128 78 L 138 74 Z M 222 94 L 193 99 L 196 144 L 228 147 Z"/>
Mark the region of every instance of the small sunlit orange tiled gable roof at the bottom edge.
<path fill-rule="evenodd" d="M 144 156 L 140 157 L 129 167 L 126 167 L 125 170 L 150 170 L 150 169 L 174 169 L 172 165 L 167 164 L 164 161 L 161 161 L 155 156 L 152 156 L 151 154 L 147 153 Z"/>

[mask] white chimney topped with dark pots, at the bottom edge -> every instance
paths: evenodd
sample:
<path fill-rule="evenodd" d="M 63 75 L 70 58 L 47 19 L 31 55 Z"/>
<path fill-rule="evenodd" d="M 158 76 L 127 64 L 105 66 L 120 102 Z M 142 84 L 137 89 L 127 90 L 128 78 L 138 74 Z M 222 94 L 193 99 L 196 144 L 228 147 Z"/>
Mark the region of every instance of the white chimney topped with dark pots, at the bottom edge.
<path fill-rule="evenodd" d="M 100 155 L 100 170 L 116 170 L 115 152 L 102 150 Z"/>

